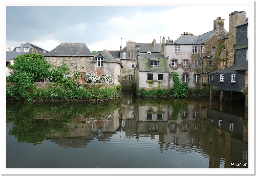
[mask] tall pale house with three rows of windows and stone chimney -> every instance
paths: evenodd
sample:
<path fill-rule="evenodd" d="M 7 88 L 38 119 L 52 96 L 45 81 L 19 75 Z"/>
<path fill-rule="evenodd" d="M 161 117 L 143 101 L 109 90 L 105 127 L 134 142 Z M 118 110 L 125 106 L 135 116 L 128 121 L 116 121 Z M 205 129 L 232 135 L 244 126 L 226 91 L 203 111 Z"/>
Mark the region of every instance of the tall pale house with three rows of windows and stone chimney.
<path fill-rule="evenodd" d="M 178 73 L 181 82 L 188 82 L 190 88 L 200 88 L 202 83 L 210 81 L 213 61 L 218 52 L 220 39 L 227 35 L 224 19 L 214 20 L 214 30 L 195 36 L 183 32 L 173 42 L 169 38 L 161 46 L 161 53 L 168 60 L 169 72 Z M 174 85 L 170 79 L 170 87 Z"/>

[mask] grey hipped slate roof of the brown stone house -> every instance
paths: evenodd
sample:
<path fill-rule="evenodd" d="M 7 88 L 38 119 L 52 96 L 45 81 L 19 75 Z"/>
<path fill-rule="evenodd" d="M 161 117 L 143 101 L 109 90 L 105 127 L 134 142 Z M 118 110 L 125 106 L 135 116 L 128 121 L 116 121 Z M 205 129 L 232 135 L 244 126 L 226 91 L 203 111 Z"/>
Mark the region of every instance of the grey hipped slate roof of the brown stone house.
<path fill-rule="evenodd" d="M 93 56 L 85 43 L 62 42 L 45 56 Z"/>

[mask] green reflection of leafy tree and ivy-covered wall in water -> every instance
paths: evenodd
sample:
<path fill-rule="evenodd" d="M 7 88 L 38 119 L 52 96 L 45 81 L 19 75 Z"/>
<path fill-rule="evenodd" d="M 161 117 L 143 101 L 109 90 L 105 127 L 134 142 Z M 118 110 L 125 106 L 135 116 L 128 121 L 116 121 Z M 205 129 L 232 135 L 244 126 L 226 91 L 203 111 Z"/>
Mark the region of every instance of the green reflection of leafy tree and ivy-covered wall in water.
<path fill-rule="evenodd" d="M 65 137 L 71 129 L 70 123 L 76 117 L 101 117 L 110 120 L 111 113 L 118 108 L 119 101 L 109 103 L 85 102 L 7 102 L 7 122 L 13 123 L 9 135 L 18 142 L 34 143 L 44 141 L 46 136 L 59 134 Z M 78 122 L 76 122 L 78 123 Z"/>

